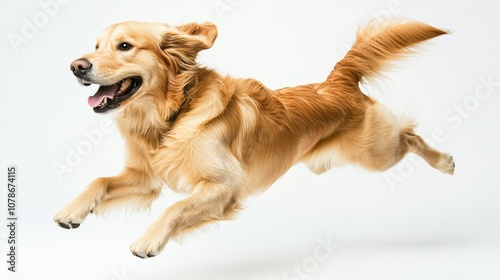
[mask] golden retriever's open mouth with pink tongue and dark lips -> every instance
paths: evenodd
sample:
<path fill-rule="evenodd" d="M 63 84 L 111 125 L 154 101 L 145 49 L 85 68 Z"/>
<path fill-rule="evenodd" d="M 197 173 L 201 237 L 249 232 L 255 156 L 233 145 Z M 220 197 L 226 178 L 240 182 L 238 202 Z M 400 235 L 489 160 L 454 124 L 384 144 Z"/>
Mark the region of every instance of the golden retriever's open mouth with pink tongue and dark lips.
<path fill-rule="evenodd" d="M 93 96 L 89 96 L 89 105 L 96 113 L 104 113 L 118 108 L 120 103 L 129 99 L 141 87 L 140 77 L 129 77 L 112 85 L 101 85 Z M 90 83 L 84 83 L 88 86 Z"/>

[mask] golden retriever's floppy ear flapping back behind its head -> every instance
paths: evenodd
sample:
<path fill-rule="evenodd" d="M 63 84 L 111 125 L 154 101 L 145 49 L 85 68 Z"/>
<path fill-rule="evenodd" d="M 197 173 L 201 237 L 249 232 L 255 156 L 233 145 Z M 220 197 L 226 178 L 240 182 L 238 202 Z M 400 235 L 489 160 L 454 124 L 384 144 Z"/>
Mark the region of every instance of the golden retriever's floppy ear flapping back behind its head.
<path fill-rule="evenodd" d="M 212 47 L 215 38 L 217 27 L 213 23 L 188 23 L 167 32 L 162 47 L 196 56 L 199 51 Z"/>

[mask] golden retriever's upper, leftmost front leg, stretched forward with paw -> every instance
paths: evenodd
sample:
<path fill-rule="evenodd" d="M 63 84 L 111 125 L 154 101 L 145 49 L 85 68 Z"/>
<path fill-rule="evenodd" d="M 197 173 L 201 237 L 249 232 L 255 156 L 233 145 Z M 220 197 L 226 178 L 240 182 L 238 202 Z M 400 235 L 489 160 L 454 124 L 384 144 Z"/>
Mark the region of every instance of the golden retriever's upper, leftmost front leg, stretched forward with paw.
<path fill-rule="evenodd" d="M 103 212 L 108 206 L 133 200 L 149 206 L 160 194 L 161 184 L 146 172 L 125 168 L 115 177 L 95 179 L 80 195 L 59 211 L 54 221 L 62 228 L 78 228 L 88 214 Z"/>

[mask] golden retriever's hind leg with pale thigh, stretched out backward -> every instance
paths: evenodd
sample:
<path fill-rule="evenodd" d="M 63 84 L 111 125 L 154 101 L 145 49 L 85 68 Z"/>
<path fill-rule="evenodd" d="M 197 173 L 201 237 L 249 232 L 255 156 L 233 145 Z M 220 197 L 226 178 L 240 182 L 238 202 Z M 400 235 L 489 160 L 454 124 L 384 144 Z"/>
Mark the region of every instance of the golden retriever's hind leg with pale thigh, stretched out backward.
<path fill-rule="evenodd" d="M 411 122 L 398 120 L 385 106 L 375 102 L 357 127 L 334 133 L 319 141 L 302 159 L 317 174 L 347 163 L 374 171 L 385 171 L 412 152 L 432 167 L 453 174 L 453 158 L 431 148 L 413 131 Z"/>

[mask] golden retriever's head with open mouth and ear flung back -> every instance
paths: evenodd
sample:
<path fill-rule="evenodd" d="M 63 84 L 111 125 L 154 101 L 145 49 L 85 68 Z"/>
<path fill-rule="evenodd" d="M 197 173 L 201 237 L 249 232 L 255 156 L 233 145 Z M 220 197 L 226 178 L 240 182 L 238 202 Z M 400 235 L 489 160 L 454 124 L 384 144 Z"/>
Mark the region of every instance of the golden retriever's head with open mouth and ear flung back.
<path fill-rule="evenodd" d="M 70 68 L 81 84 L 99 85 L 88 103 L 102 113 L 139 101 L 153 90 L 166 94 L 186 86 L 187 81 L 176 77 L 192 71 L 198 52 L 210 48 L 216 37 L 211 23 L 123 22 L 104 30 L 95 51 Z"/>

